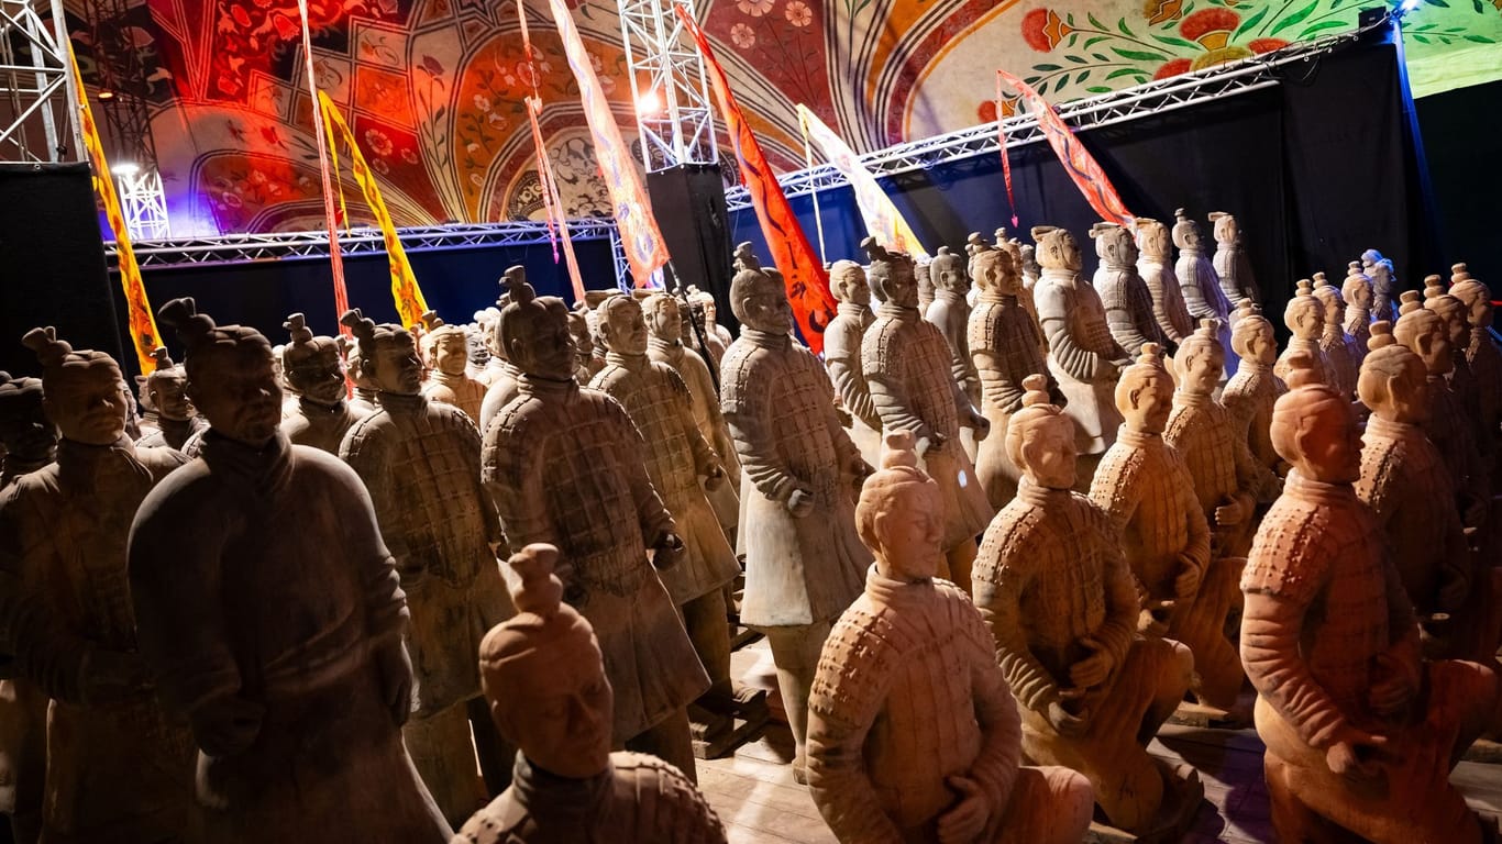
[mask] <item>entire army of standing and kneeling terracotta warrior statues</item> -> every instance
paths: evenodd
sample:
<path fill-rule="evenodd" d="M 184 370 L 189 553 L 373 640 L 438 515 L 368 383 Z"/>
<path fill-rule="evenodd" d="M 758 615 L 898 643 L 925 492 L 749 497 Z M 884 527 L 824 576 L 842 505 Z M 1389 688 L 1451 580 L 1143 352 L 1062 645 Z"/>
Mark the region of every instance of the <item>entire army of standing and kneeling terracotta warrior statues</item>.
<path fill-rule="evenodd" d="M 1140 221 L 1145 257 L 1166 228 Z M 1093 234 L 1130 275 L 1133 237 Z M 278 375 L 174 300 L 186 360 L 135 442 L 120 368 L 29 333 L 41 383 L 0 384 L 0 697 L 45 742 L 18 827 L 722 839 L 689 722 L 757 703 L 728 671 L 739 553 L 843 841 L 1164 833 L 1199 791 L 1146 743 L 1248 685 L 1286 839 L 1479 841 L 1446 779 L 1499 725 L 1485 287 L 1457 266 L 1352 342 L 1353 264 L 1344 296 L 1301 284 L 1280 357 L 1245 260 L 1181 215 L 1175 290 L 1218 315 L 1169 336 L 1149 285 L 1128 350 L 1072 236 L 1033 237 L 1030 290 L 1017 243 L 942 249 L 927 312 L 919 264 L 868 242 L 832 267 L 823 362 L 745 246 L 713 369 L 674 297 L 571 311 L 520 267 L 484 366 L 464 327 L 350 311 L 348 345 L 290 317 Z"/>

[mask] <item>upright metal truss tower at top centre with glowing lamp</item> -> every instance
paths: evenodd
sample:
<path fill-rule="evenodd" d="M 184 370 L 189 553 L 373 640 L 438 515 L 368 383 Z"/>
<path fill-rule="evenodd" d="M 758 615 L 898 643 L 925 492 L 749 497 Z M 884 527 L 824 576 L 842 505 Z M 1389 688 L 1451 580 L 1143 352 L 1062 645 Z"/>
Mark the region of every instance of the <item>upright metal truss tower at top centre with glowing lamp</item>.
<path fill-rule="evenodd" d="M 694 15 L 692 0 L 679 5 Z M 719 161 L 704 62 L 673 6 L 674 0 L 617 0 L 647 173 Z"/>

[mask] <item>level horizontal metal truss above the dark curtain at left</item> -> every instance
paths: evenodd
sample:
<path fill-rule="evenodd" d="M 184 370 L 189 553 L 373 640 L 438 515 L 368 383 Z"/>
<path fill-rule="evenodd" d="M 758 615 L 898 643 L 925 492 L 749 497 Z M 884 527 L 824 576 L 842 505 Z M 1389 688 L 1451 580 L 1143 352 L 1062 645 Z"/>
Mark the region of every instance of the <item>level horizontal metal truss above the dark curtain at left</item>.
<path fill-rule="evenodd" d="M 605 240 L 614 236 L 616 224 L 602 218 L 571 219 L 574 240 Z M 539 246 L 551 243 L 545 222 L 476 222 L 458 225 L 425 225 L 400 228 L 397 234 L 409 252 L 434 249 L 481 249 L 488 246 Z M 105 243 L 113 263 L 116 245 Z M 360 227 L 339 234 L 344 255 L 385 254 L 380 228 Z M 185 237 L 176 240 L 141 242 L 135 257 L 143 267 L 186 267 L 216 264 L 249 264 L 299 258 L 327 258 L 327 231 L 290 231 L 279 234 L 221 234 L 218 237 Z"/>

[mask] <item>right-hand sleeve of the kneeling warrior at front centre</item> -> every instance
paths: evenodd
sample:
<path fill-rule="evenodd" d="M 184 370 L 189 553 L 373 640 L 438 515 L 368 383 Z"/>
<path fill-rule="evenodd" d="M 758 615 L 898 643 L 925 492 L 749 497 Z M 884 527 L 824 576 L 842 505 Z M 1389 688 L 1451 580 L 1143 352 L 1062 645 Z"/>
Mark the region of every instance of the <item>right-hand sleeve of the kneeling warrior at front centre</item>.
<path fill-rule="evenodd" d="M 960 605 L 957 611 L 961 616 L 966 646 L 972 652 L 970 688 L 975 692 L 975 719 L 984 736 L 981 754 L 970 766 L 970 778 L 985 788 L 991 806 L 1000 812 L 1006 808 L 1012 784 L 1017 782 L 1017 766 L 1021 764 L 1023 722 L 1017 713 L 1017 701 L 1006 688 L 1006 674 L 996 664 L 993 638 L 985 629 L 985 622 L 969 605 Z"/>

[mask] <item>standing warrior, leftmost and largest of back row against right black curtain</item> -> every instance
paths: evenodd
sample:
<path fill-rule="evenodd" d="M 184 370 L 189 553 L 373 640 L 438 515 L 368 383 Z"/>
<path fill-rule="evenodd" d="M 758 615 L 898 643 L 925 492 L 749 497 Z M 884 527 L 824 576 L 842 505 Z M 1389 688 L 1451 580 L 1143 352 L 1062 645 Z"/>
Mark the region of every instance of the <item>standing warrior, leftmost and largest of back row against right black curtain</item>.
<path fill-rule="evenodd" d="M 1063 228 L 1033 228 L 1042 278 L 1033 291 L 1038 318 L 1048 338 L 1048 372 L 1059 380 L 1074 420 L 1074 448 L 1083 457 L 1080 484 L 1090 475 L 1105 449 L 1116 442 L 1122 417 L 1116 411 L 1116 377 L 1131 363 L 1105 324 L 1105 305 L 1080 275 L 1080 248 Z M 1009 452 L 1011 449 L 1008 449 Z"/>

